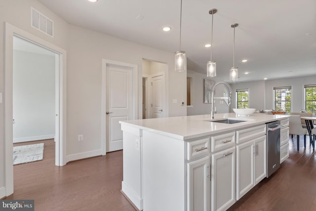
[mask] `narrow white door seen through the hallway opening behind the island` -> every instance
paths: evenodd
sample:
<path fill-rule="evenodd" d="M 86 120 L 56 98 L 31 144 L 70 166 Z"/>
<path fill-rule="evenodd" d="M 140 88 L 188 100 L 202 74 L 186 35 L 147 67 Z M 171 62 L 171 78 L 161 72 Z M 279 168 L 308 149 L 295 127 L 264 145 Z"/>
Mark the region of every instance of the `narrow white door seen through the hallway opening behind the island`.
<path fill-rule="evenodd" d="M 163 111 L 165 110 L 165 84 L 164 74 L 152 76 L 152 117 L 165 117 Z"/>

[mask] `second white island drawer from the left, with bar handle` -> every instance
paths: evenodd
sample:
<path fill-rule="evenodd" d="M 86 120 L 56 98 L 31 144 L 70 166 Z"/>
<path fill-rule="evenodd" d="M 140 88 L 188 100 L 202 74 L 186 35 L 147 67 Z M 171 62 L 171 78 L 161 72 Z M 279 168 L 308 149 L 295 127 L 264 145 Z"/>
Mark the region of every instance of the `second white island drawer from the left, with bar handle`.
<path fill-rule="evenodd" d="M 220 135 L 211 136 L 211 152 L 215 152 L 220 149 L 235 146 L 236 132 L 227 132 Z"/>

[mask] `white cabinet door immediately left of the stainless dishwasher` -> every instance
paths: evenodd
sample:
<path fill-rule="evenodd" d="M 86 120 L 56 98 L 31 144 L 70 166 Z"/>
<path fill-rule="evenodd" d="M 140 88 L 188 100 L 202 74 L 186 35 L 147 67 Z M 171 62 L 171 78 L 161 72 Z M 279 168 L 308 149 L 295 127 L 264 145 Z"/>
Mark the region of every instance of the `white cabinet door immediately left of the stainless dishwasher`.
<path fill-rule="evenodd" d="M 267 136 L 254 139 L 255 185 L 267 176 Z"/>

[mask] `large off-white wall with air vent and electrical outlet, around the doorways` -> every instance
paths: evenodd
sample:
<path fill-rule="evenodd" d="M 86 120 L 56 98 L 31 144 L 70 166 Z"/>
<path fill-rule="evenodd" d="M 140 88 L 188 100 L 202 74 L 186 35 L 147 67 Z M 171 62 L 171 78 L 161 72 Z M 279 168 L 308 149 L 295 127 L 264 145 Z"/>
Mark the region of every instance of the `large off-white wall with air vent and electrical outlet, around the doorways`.
<path fill-rule="evenodd" d="M 31 6 L 54 21 L 54 38 L 30 26 Z M 101 149 L 102 59 L 138 65 L 138 96 L 142 96 L 142 60 L 159 61 L 174 69 L 174 53 L 158 50 L 68 24 L 37 0 L 0 0 L 0 23 L 8 22 L 67 51 L 67 155 Z M 2 25 L 3 26 L 3 25 Z M 0 27 L 0 49 L 3 49 Z M 0 50 L 0 64 L 4 55 Z M 4 92 L 4 69 L 0 65 L 0 93 Z M 169 116 L 186 115 L 186 107 L 172 99 L 186 99 L 186 72 L 166 75 Z M 0 103 L 0 188 L 4 185 L 4 102 Z M 138 98 L 142 118 L 142 98 Z M 78 142 L 77 135 L 84 141 Z M 101 151 L 101 150 L 100 150 Z M 2 197 L 2 196 L 0 196 Z"/>

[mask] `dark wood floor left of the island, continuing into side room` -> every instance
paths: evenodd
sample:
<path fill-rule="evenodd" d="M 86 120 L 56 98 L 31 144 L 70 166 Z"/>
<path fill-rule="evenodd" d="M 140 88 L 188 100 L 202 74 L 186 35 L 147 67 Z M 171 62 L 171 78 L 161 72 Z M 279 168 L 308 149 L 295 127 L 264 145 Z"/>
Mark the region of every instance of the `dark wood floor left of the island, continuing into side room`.
<path fill-rule="evenodd" d="M 122 151 L 55 167 L 54 140 L 44 143 L 43 160 L 16 165 L 14 194 L 6 199 L 34 199 L 35 211 L 135 211 L 120 193 Z"/>

